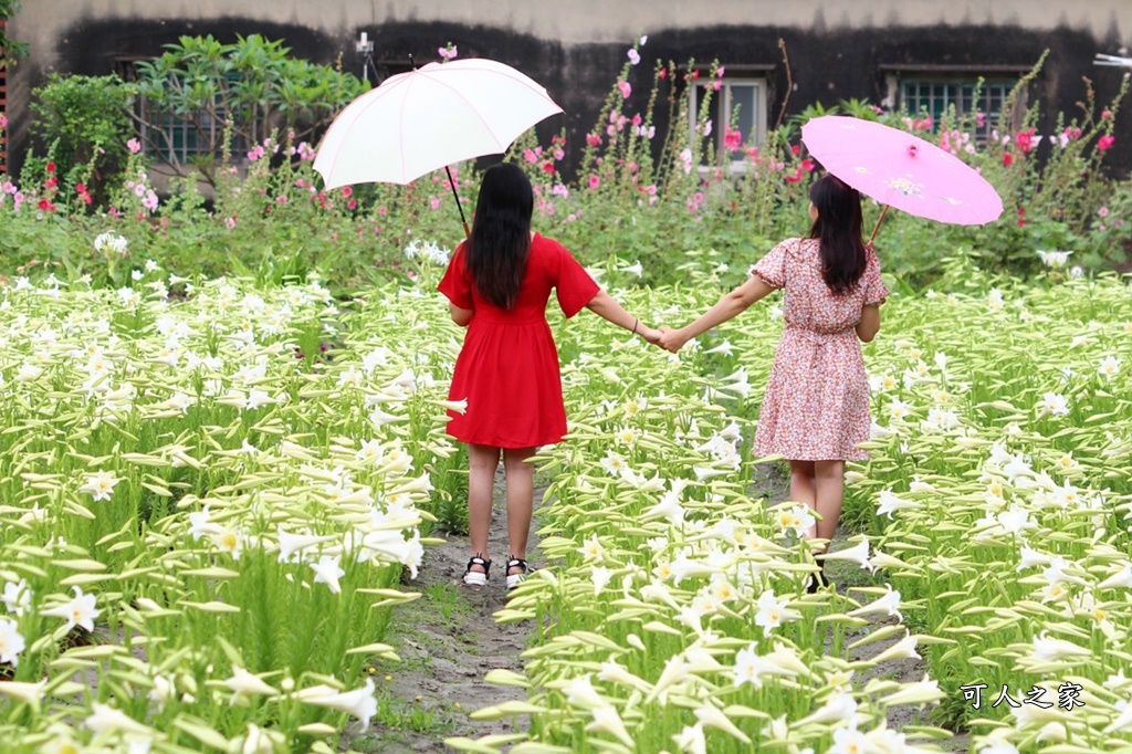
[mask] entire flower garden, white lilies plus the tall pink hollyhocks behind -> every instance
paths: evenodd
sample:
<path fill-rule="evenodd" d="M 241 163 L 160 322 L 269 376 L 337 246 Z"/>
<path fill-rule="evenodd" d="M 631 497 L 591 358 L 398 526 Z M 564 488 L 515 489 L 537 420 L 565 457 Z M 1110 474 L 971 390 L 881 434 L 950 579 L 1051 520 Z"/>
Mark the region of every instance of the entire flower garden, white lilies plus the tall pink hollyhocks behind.
<path fill-rule="evenodd" d="M 805 232 L 813 115 L 933 139 L 1004 214 L 886 220 L 872 459 L 813 594 L 812 517 L 751 452 L 780 299 L 679 354 L 551 306 L 569 435 L 535 457 L 541 567 L 494 616 L 528 648 L 480 674 L 525 699 L 430 744 L 1132 752 L 1132 182 L 1105 163 L 1130 80 L 1046 134 L 1037 102 L 1010 115 L 1043 57 L 997 122 L 851 101 L 754 145 L 711 121 L 722 67 L 646 70 L 646 40 L 576 144 L 506 156 L 534 226 L 643 323 L 686 324 Z M 323 190 L 302 138 L 233 155 L 225 131 L 165 187 L 135 138 L 0 175 L 5 752 L 395 751 L 395 628 L 466 528 L 463 331 L 436 292 L 456 207 L 439 173 Z"/>

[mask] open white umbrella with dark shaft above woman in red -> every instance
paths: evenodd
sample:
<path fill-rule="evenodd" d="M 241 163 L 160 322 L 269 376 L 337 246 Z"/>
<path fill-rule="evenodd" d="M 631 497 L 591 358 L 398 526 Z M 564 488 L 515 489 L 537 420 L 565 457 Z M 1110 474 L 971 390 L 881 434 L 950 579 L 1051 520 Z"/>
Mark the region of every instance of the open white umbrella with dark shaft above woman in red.
<path fill-rule="evenodd" d="M 482 58 L 432 62 L 391 76 L 346 105 L 323 137 L 315 170 L 326 188 L 408 183 L 454 162 L 501 154 L 561 111 L 511 66 Z M 451 173 L 448 182 L 455 194 Z M 463 220 L 458 196 L 456 206 Z"/>

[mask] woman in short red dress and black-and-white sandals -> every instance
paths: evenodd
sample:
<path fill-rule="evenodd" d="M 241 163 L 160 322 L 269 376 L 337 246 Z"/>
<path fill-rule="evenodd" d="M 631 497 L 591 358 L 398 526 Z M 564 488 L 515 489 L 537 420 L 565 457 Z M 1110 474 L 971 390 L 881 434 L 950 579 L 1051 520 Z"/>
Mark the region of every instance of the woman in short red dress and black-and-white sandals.
<path fill-rule="evenodd" d="M 526 575 L 526 538 L 534 506 L 534 466 L 540 445 L 566 434 L 558 350 L 547 324 L 550 289 L 566 317 L 588 308 L 651 343 L 645 327 L 590 277 L 560 243 L 531 231 L 534 194 L 526 174 L 503 163 L 480 185 L 471 238 L 456 247 L 438 290 L 452 319 L 468 327 L 448 397 L 468 401 L 449 411 L 448 434 L 468 444 L 469 534 L 472 557 L 464 583 L 482 586 L 491 559 L 491 483 L 503 451 L 507 479 L 507 588 Z"/>

